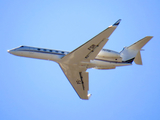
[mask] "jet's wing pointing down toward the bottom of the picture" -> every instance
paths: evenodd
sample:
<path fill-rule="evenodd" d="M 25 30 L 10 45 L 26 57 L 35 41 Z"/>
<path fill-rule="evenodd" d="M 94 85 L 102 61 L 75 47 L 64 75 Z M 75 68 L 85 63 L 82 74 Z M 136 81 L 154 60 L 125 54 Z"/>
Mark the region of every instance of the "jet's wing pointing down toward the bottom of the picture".
<path fill-rule="evenodd" d="M 64 74 L 68 78 L 69 82 L 73 86 L 81 99 L 88 100 L 91 94 L 88 94 L 88 72 L 85 72 L 85 68 L 80 68 L 78 65 L 67 65 L 59 63 Z"/>

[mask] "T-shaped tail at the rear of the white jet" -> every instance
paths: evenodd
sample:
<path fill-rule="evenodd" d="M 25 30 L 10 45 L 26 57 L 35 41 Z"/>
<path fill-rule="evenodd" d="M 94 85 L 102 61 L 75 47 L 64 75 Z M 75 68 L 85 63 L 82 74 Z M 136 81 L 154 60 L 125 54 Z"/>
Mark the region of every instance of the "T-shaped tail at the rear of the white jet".
<path fill-rule="evenodd" d="M 133 61 L 138 64 L 142 65 L 141 59 L 141 49 L 142 47 L 152 39 L 153 36 L 146 36 L 143 39 L 139 40 L 138 42 L 132 44 L 129 47 L 125 47 L 121 52 L 120 56 L 122 57 L 122 61 L 125 63 L 132 63 Z"/>

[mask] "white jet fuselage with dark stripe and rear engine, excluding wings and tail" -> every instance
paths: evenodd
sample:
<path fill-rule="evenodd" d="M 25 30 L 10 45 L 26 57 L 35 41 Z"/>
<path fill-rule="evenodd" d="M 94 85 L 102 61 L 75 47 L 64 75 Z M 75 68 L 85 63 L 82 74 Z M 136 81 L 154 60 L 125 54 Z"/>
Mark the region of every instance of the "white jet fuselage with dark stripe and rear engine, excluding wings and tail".
<path fill-rule="evenodd" d="M 20 46 L 18 48 L 8 50 L 8 52 L 17 56 L 51 60 L 57 63 L 61 63 L 61 58 L 69 54 L 69 52 L 66 51 L 29 46 Z M 82 61 L 80 65 L 85 66 L 86 68 L 114 69 L 117 66 L 131 65 L 131 63 L 123 62 L 120 53 L 118 52 L 102 49 L 94 60 L 90 60 L 90 62 Z"/>

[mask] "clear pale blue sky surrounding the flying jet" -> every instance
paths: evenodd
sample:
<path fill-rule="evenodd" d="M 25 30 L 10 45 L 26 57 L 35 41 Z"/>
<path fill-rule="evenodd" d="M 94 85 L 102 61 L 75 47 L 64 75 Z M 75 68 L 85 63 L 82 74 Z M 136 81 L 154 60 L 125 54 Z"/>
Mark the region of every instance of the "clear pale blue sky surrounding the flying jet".
<path fill-rule="evenodd" d="M 0 0 L 0 120 L 159 120 L 159 0 Z M 53 61 L 7 53 L 20 45 L 72 51 L 122 19 L 104 46 L 145 36 L 143 65 L 88 69 L 81 100 Z"/>

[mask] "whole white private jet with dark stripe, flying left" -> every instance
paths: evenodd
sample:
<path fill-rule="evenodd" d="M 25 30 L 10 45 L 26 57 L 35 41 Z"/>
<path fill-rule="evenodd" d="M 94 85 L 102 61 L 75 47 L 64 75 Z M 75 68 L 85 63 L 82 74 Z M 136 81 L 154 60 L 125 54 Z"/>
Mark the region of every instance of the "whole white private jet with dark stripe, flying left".
<path fill-rule="evenodd" d="M 72 52 L 30 46 L 20 46 L 8 52 L 16 56 L 57 62 L 78 96 L 88 100 L 91 94 L 88 94 L 89 73 L 86 72 L 87 69 L 115 69 L 119 66 L 132 65 L 133 61 L 142 65 L 141 48 L 153 36 L 146 36 L 131 46 L 124 47 L 121 52 L 103 48 L 120 21 L 121 19 Z"/>

